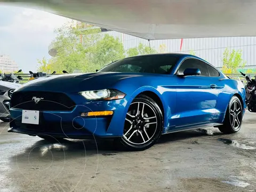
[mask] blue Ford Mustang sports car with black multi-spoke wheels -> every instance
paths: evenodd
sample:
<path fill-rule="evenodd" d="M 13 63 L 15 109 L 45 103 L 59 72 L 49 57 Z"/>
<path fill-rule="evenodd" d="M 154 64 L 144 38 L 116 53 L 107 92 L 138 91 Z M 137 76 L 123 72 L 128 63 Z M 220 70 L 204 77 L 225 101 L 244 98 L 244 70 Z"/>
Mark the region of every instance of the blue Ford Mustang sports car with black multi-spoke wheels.
<path fill-rule="evenodd" d="M 34 79 L 11 98 L 9 132 L 43 139 L 113 138 L 147 149 L 161 134 L 241 129 L 244 85 L 189 54 L 121 59 L 97 73 Z"/>

